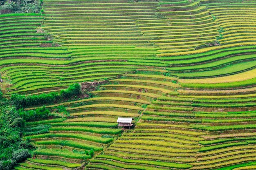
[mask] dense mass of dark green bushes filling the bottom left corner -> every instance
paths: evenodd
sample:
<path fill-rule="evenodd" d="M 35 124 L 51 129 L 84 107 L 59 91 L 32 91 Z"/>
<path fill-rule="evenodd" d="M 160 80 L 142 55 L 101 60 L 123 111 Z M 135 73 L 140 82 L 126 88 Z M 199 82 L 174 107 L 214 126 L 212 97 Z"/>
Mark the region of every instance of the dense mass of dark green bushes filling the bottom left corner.
<path fill-rule="evenodd" d="M 0 170 L 11 170 L 16 163 L 31 157 L 29 150 L 34 147 L 21 140 L 24 123 L 15 107 L 0 107 Z"/>

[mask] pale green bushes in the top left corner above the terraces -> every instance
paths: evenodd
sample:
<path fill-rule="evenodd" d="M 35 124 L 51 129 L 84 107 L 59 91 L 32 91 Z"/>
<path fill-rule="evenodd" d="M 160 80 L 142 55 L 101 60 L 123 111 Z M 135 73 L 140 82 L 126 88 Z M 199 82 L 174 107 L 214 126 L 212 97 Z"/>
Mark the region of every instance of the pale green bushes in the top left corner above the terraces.
<path fill-rule="evenodd" d="M 1 0 L 0 14 L 2 13 L 40 13 L 43 0 Z"/>

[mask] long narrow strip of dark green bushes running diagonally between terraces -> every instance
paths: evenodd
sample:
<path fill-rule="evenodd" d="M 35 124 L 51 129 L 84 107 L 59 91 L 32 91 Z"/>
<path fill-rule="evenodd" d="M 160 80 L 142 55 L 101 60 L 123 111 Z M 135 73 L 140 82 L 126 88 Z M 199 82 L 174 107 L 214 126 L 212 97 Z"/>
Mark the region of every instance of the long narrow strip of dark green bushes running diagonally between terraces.
<path fill-rule="evenodd" d="M 60 93 L 51 92 L 43 93 L 40 95 L 11 95 L 11 102 L 16 108 L 24 108 L 27 106 L 39 105 L 39 104 L 50 104 L 57 102 L 57 100 L 64 98 L 68 99 L 72 96 L 79 95 L 81 93 L 80 84 L 72 84 L 66 90 L 62 90 Z"/>

